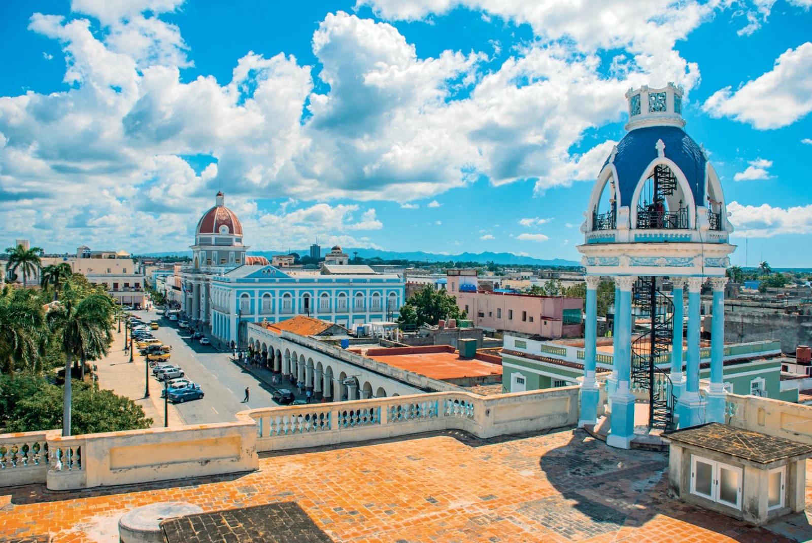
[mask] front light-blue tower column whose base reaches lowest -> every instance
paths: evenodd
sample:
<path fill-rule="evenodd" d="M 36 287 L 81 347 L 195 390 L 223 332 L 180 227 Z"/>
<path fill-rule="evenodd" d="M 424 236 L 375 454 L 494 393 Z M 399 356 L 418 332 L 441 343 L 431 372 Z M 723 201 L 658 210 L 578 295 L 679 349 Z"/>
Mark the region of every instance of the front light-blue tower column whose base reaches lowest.
<path fill-rule="evenodd" d="M 634 404 L 632 381 L 632 287 L 637 281 L 633 275 L 615 277 L 620 288 L 620 300 L 615 300 L 617 338 L 614 366 L 617 368 L 617 390 L 612 395 L 610 433 L 607 445 L 628 449 L 634 437 Z"/>

